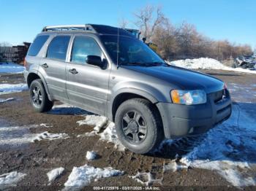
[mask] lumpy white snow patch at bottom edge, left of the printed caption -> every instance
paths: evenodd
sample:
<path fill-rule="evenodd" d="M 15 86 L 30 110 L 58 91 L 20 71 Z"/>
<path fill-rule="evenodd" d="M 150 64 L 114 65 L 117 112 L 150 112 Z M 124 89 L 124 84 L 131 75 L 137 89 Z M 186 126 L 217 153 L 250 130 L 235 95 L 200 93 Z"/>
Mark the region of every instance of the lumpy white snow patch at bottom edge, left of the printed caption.
<path fill-rule="evenodd" d="M 74 167 L 67 182 L 65 182 L 65 190 L 79 190 L 88 186 L 91 181 L 97 179 L 107 178 L 110 176 L 120 176 L 124 174 L 122 171 L 115 170 L 111 167 L 108 168 L 95 168 L 90 165 L 83 165 Z"/>

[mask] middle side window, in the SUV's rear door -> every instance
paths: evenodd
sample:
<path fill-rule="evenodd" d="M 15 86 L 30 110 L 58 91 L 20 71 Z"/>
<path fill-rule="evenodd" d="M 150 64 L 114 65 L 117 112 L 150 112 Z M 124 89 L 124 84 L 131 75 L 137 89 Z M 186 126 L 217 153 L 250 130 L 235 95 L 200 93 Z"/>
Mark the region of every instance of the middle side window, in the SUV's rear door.
<path fill-rule="evenodd" d="M 49 44 L 47 58 L 65 61 L 70 36 L 56 36 Z"/>

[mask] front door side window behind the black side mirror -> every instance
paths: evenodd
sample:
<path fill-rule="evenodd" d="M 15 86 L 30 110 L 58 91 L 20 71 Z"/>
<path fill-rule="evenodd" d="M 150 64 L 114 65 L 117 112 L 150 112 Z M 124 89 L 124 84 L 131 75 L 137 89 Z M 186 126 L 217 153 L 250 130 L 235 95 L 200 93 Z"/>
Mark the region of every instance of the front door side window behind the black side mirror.
<path fill-rule="evenodd" d="M 104 57 L 102 50 L 93 38 L 89 36 L 76 36 L 72 47 L 71 62 L 86 64 L 86 57 L 88 55 Z"/>

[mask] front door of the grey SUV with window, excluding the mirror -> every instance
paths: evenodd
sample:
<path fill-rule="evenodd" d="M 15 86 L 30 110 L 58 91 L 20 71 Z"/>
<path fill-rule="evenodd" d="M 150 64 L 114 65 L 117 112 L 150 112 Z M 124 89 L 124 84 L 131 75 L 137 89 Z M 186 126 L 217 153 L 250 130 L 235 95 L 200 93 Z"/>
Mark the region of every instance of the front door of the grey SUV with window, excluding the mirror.
<path fill-rule="evenodd" d="M 92 36 L 73 36 L 67 64 L 67 95 L 69 102 L 90 112 L 105 114 L 108 101 L 110 66 L 100 69 L 86 63 L 87 55 L 107 61 L 102 48 Z"/>

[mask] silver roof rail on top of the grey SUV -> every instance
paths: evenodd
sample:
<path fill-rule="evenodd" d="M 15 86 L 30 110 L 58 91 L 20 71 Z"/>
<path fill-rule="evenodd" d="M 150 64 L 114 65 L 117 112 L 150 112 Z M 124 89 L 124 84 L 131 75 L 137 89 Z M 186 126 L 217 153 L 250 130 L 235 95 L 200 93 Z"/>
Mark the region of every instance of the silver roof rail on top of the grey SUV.
<path fill-rule="evenodd" d="M 68 25 L 68 26 L 45 26 L 42 32 L 46 31 L 90 31 L 96 32 L 91 25 Z"/>

